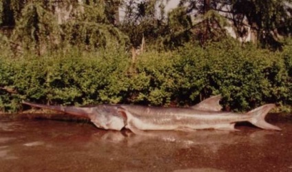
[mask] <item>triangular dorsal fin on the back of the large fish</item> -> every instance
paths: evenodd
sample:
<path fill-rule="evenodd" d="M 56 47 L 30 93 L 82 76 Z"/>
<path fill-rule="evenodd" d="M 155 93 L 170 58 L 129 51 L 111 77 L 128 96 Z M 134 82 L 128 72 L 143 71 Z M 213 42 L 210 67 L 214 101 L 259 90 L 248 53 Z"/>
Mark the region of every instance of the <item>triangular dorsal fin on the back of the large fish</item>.
<path fill-rule="evenodd" d="M 210 98 L 202 100 L 202 102 L 192 106 L 191 108 L 202 111 L 221 111 L 222 106 L 219 104 L 221 98 L 221 95 L 212 96 Z"/>

